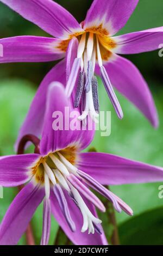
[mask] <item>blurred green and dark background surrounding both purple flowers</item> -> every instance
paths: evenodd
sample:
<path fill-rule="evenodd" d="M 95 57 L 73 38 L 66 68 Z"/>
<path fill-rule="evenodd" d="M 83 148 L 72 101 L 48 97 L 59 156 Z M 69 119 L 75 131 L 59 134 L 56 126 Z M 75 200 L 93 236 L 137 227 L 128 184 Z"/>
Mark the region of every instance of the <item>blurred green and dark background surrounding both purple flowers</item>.
<path fill-rule="evenodd" d="M 91 0 L 58 0 L 80 22 L 84 20 Z M 102 2 L 102 1 L 101 1 Z M 162 26 L 162 0 L 140 0 L 134 14 L 119 34 Z M 47 35 L 32 23 L 24 20 L 0 3 L 0 36 Z M 163 42 L 160 42 L 163 43 Z M 118 120 L 99 80 L 101 110 L 111 110 L 111 136 L 101 137 L 96 133 L 91 147 L 98 151 L 117 154 L 130 159 L 163 166 L 163 57 L 158 51 L 126 56 L 146 78 L 158 108 L 160 126 L 154 130 L 148 121 L 123 96 L 118 94 L 123 120 Z M 13 145 L 24 117 L 28 111 L 42 78 L 52 68 L 51 63 L 14 63 L 0 66 L 0 155 L 13 154 Z M 161 184 L 139 184 L 112 186 L 111 190 L 125 200 L 134 210 L 134 217 L 116 214 L 120 241 L 123 245 L 163 245 L 163 199 L 158 197 Z M 162 182 L 163 185 L 163 182 Z M 4 216 L 17 188 L 4 188 L 4 199 L 0 199 L 0 219 Z M 110 231 L 107 218 L 103 216 L 107 236 Z M 33 217 L 36 242 L 40 242 L 42 229 L 42 205 Z M 52 219 L 49 244 L 53 244 L 58 224 Z M 19 244 L 25 244 L 24 237 Z"/>

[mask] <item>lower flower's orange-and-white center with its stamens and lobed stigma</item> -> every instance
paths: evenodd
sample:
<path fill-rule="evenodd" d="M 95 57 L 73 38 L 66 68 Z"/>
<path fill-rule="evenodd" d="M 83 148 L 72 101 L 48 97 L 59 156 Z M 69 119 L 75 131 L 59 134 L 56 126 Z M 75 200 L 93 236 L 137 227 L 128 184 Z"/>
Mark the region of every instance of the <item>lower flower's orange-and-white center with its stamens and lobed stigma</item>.
<path fill-rule="evenodd" d="M 32 168 L 32 174 L 34 175 L 36 182 L 44 185 L 45 197 L 47 200 L 53 190 L 59 202 L 61 211 L 63 212 L 72 231 L 74 231 L 75 225 L 71 219 L 62 189 L 68 192 L 70 198 L 82 212 L 82 232 L 89 229 L 89 233 L 94 233 L 95 230 L 98 233 L 101 233 L 100 228 L 98 227 L 101 220 L 96 218 L 89 208 L 87 208 L 87 205 L 85 204 L 82 196 L 80 196 L 79 191 L 83 193 L 84 196 L 89 197 L 91 202 L 101 211 L 105 211 L 104 205 L 91 191 L 89 191 L 88 188 L 82 185 L 82 182 L 78 180 L 79 174 L 77 173 L 78 169 L 74 166 L 75 160 L 76 151 L 74 148 L 60 150 L 58 152 L 51 153 L 46 157 L 41 157 L 39 162 L 37 162 L 37 164 Z"/>

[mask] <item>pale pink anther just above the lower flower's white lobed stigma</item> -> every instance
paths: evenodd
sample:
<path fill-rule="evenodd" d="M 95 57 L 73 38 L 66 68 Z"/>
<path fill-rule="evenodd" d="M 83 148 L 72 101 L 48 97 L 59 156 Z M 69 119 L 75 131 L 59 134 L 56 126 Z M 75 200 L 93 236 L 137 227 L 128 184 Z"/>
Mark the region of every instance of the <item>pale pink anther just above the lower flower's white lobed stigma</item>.
<path fill-rule="evenodd" d="M 78 191 L 80 191 L 92 204 L 94 204 L 99 210 L 102 212 L 105 212 L 105 206 L 101 202 L 101 200 L 98 199 L 98 197 L 93 194 L 89 188 L 84 186 L 84 184 L 76 178 L 73 174 L 70 174 L 67 177 L 67 180 L 71 182 L 71 184 L 77 188 Z"/>

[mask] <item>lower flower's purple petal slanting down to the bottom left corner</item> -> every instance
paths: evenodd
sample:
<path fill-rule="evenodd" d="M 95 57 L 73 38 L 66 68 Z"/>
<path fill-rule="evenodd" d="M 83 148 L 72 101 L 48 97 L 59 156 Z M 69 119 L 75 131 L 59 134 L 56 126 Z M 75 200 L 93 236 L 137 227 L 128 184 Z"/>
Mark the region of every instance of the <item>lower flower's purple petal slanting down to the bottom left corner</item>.
<path fill-rule="evenodd" d="M 37 206 L 43 200 L 43 189 L 30 182 L 17 194 L 0 226 L 0 245 L 16 245 L 26 231 Z"/>

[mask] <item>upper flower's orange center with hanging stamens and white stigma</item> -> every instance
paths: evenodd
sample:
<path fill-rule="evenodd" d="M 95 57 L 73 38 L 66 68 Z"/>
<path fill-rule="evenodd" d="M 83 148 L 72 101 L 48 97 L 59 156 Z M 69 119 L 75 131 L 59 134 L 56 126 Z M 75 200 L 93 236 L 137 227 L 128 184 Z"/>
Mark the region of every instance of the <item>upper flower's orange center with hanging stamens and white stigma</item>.
<path fill-rule="evenodd" d="M 102 28 L 101 28 L 102 29 Z M 90 115 L 95 123 L 98 123 L 99 100 L 98 100 L 98 82 L 95 74 L 96 62 L 98 63 L 102 81 L 106 92 L 109 95 L 112 105 L 119 118 L 123 117 L 120 103 L 112 88 L 108 74 L 103 66 L 103 61 L 108 61 L 111 57 L 111 50 L 116 47 L 116 42 L 108 35 L 102 34 L 100 29 L 89 28 L 86 33 L 78 36 L 79 45 L 77 58 L 74 60 L 70 77 L 66 85 L 66 93 L 71 95 L 76 83 L 79 72 L 78 86 L 74 107 L 80 106 L 82 114 L 79 120 L 86 124 L 87 115 Z"/>

